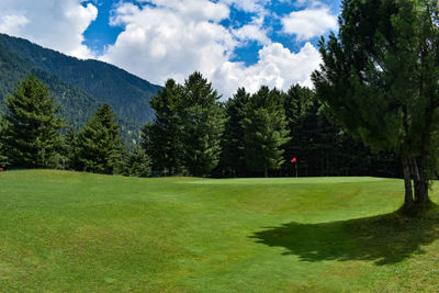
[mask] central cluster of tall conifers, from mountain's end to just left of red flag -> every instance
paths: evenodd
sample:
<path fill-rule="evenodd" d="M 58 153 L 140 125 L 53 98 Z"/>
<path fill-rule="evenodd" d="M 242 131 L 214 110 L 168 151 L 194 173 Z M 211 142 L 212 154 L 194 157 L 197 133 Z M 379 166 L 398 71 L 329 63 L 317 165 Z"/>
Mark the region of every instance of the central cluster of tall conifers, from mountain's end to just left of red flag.
<path fill-rule="evenodd" d="M 289 140 L 282 94 L 267 87 L 254 95 L 239 89 L 232 101 L 224 106 L 200 72 L 184 84 L 168 80 L 151 100 L 156 120 L 143 128 L 153 169 L 209 176 L 219 160 L 229 176 L 237 176 L 237 165 L 266 176 L 279 169 Z"/>

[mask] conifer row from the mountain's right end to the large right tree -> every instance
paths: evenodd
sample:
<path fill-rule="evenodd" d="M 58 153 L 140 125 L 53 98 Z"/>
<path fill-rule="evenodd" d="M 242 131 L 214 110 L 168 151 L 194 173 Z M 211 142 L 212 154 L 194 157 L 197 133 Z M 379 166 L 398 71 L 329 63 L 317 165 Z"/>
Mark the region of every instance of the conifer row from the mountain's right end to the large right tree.
<path fill-rule="evenodd" d="M 238 89 L 225 103 L 199 72 L 170 79 L 142 131 L 156 174 L 214 177 L 399 176 L 392 154 L 371 154 L 322 113 L 314 91 Z"/>

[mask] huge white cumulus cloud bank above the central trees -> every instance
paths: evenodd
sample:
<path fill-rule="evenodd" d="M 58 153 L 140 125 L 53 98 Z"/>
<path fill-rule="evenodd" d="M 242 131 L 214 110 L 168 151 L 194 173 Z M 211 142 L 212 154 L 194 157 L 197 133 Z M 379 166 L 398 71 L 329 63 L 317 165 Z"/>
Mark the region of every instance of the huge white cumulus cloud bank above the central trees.
<path fill-rule="evenodd" d="M 320 60 L 317 49 L 307 43 L 299 53 L 292 53 L 272 43 L 259 14 L 239 29 L 226 29 L 221 24 L 229 16 L 226 1 L 147 2 L 142 8 L 124 3 L 114 11 L 112 24 L 124 31 L 106 48 L 102 60 L 159 84 L 168 78 L 183 82 L 199 70 L 224 98 L 232 97 L 238 87 L 255 92 L 262 84 L 284 90 L 296 82 L 312 86 L 309 75 Z M 256 1 L 234 4 L 239 3 L 248 10 L 257 9 Z M 248 67 L 230 61 L 235 48 L 248 41 L 262 45 L 258 63 Z"/>

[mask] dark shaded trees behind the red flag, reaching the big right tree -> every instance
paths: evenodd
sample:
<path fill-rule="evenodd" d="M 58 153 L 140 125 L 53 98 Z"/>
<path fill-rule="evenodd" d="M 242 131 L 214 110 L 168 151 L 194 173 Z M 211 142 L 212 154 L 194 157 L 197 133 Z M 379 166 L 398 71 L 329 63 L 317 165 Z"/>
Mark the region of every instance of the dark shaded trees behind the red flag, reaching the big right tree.
<path fill-rule="evenodd" d="M 285 94 L 285 113 L 291 140 L 285 145 L 282 171 L 295 176 L 379 176 L 399 177 L 398 158 L 392 154 L 371 154 L 361 143 L 328 121 L 314 91 L 299 84 Z M 291 164 L 295 157 L 297 161 Z"/>

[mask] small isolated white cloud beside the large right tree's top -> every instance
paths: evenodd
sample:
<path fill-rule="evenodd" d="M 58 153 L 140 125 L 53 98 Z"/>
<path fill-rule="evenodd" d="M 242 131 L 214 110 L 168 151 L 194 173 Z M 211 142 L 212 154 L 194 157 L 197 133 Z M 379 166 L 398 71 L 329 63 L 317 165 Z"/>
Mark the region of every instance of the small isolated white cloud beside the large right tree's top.
<path fill-rule="evenodd" d="M 337 29 L 337 16 L 330 14 L 328 8 L 306 9 L 291 12 L 282 19 L 284 33 L 305 41 Z"/>

